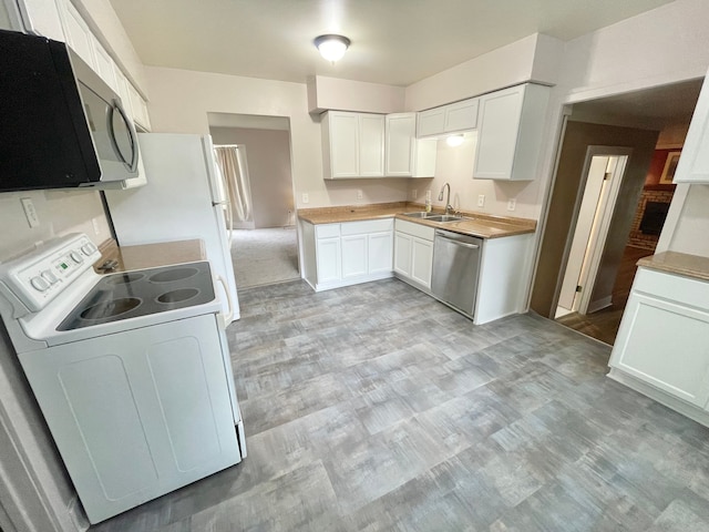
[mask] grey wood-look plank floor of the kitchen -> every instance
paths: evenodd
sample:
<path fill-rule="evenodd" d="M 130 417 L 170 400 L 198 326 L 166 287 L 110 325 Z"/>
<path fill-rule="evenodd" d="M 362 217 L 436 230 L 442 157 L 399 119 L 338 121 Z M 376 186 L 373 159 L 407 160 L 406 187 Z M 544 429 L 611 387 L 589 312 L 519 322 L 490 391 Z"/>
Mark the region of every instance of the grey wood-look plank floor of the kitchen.
<path fill-rule="evenodd" d="M 608 346 L 397 279 L 239 299 L 248 457 L 92 532 L 709 530 L 709 429 L 605 377 Z"/>

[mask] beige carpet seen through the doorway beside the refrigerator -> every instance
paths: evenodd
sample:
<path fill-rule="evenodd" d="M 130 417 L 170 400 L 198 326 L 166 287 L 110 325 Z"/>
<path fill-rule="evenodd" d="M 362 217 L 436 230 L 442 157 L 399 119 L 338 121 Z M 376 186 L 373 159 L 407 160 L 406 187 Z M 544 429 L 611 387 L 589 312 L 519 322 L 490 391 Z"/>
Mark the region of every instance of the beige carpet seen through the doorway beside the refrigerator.
<path fill-rule="evenodd" d="M 299 279 L 296 228 L 235 229 L 232 263 L 237 288 Z"/>

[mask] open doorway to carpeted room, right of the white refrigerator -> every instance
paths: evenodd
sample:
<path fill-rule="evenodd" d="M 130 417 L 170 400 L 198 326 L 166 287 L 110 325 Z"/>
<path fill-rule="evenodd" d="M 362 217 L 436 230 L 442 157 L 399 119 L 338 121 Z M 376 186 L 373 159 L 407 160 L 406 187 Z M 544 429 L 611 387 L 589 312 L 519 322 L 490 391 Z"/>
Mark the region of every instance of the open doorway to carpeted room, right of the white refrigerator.
<path fill-rule="evenodd" d="M 208 113 L 208 121 L 217 163 L 233 183 L 232 262 L 237 288 L 300 278 L 289 120 Z"/>

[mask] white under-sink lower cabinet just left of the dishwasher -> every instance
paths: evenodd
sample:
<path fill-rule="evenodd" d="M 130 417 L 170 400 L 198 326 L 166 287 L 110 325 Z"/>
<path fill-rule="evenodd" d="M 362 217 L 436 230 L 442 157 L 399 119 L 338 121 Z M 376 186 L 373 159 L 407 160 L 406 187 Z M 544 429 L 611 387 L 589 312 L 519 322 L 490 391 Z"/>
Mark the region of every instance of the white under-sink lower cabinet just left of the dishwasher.
<path fill-rule="evenodd" d="M 397 219 L 394 273 L 397 277 L 424 290 L 431 289 L 433 270 L 433 235 L 435 229 Z"/>

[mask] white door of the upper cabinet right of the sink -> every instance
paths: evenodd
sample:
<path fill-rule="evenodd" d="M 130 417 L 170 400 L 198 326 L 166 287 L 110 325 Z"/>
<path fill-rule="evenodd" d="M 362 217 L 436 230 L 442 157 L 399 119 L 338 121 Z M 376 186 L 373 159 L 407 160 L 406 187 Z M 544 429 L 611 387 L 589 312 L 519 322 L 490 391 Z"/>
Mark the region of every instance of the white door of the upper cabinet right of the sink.
<path fill-rule="evenodd" d="M 473 177 L 512 178 L 524 86 L 481 96 Z"/>

